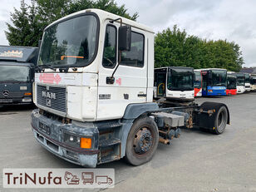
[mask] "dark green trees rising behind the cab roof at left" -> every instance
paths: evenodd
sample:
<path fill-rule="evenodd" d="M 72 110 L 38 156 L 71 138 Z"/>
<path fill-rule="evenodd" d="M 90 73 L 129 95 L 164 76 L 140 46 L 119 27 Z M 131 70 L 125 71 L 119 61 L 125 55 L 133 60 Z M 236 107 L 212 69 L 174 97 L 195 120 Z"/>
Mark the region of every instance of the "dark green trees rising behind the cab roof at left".
<path fill-rule="evenodd" d="M 12 46 L 37 46 L 47 25 L 61 17 L 87 8 L 99 8 L 121 17 L 135 20 L 138 13 L 127 13 L 125 5 L 118 6 L 114 0 L 31 0 L 28 6 L 21 0 L 20 10 L 11 12 L 11 22 L 7 24 L 6 37 Z"/>

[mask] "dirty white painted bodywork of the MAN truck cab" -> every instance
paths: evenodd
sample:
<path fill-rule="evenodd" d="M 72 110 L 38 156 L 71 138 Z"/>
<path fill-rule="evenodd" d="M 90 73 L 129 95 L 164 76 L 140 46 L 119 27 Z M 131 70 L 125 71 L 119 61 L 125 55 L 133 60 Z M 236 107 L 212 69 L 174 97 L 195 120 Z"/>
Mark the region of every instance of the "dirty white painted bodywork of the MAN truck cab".
<path fill-rule="evenodd" d="M 115 74 L 115 83 L 106 84 L 106 77 L 111 76 L 114 71 L 101 64 L 106 24 L 110 19 L 116 19 L 119 16 L 96 9 L 90 11 L 96 12 L 100 19 L 100 39 L 95 60 L 89 66 L 78 67 L 77 71 L 72 71 L 70 68 L 67 73 L 60 73 L 58 69 L 57 71 L 46 69 L 44 73 L 36 73 L 35 84 L 66 86 L 66 117 L 77 121 L 118 119 L 124 116 L 126 106 L 129 104 L 153 100 L 154 32 L 149 27 L 122 18 L 123 23 L 131 26 L 132 31 L 140 32 L 145 36 L 144 66 L 142 68 L 119 66 Z M 120 27 L 120 23 L 114 24 L 117 28 Z M 37 86 L 34 94 L 37 94 Z M 102 99 L 100 95 L 106 98 Z M 37 103 L 37 96 L 34 96 L 34 101 Z M 57 111 L 54 113 L 59 115 Z"/>

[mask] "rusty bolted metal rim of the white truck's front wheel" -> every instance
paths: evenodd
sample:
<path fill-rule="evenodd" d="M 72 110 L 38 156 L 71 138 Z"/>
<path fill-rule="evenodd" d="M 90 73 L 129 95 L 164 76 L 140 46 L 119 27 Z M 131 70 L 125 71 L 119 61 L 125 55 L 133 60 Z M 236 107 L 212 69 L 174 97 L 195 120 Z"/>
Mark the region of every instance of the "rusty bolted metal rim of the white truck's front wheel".
<path fill-rule="evenodd" d="M 148 128 L 140 128 L 134 137 L 133 148 L 136 155 L 145 155 L 151 150 L 153 145 L 153 136 Z"/>

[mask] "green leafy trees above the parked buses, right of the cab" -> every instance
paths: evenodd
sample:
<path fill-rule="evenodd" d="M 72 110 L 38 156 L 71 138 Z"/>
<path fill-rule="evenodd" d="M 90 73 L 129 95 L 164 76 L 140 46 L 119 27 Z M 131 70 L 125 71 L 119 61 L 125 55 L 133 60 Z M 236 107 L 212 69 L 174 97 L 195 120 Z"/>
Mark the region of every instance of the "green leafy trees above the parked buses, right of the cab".
<path fill-rule="evenodd" d="M 191 66 L 226 68 L 239 71 L 244 64 L 238 44 L 226 40 L 206 41 L 189 36 L 177 26 L 155 36 L 155 67 Z"/>

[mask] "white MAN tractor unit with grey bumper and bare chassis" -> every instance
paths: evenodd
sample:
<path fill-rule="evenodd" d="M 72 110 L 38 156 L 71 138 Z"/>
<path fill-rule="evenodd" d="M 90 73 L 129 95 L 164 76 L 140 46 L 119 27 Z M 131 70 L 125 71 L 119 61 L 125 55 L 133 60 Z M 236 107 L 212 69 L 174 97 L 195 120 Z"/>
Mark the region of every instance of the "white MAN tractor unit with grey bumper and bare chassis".
<path fill-rule="evenodd" d="M 153 101 L 154 32 L 98 9 L 63 17 L 43 33 L 33 85 L 32 131 L 53 154 L 86 167 L 126 157 L 141 165 L 180 127 L 215 134 L 228 107 L 165 107 Z"/>

